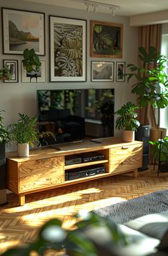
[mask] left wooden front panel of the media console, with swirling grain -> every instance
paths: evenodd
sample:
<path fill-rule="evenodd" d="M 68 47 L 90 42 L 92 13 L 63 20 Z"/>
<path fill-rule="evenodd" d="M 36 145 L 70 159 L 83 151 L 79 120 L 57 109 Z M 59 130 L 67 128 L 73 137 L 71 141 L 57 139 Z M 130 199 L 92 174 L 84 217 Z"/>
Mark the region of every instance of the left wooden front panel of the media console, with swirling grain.
<path fill-rule="evenodd" d="M 64 157 L 19 163 L 19 192 L 43 189 L 64 182 Z"/>

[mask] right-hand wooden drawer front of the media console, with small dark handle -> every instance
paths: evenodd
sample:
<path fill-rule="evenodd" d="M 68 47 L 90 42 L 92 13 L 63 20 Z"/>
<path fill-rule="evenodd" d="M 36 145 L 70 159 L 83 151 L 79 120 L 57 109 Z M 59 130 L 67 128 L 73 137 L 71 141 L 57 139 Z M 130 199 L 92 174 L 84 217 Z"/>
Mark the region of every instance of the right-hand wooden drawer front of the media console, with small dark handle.
<path fill-rule="evenodd" d="M 111 148 L 109 156 L 111 173 L 137 169 L 142 166 L 142 143 Z"/>

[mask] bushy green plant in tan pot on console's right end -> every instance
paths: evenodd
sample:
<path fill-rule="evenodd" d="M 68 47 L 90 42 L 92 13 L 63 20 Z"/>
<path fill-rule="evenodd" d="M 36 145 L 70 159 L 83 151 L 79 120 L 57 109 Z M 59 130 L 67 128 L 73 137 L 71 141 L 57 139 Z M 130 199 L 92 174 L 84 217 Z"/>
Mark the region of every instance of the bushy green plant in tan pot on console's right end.
<path fill-rule="evenodd" d="M 140 125 L 137 120 L 137 109 L 137 105 L 128 102 L 115 112 L 115 114 L 119 115 L 116 120 L 116 128 L 123 130 L 123 141 L 134 141 L 134 131 L 137 131 Z"/>

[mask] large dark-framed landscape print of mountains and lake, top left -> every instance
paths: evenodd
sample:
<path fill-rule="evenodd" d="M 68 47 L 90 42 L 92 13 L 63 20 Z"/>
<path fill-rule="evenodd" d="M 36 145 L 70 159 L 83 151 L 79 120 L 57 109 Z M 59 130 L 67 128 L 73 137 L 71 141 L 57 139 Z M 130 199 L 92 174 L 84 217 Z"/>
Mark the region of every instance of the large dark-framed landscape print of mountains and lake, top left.
<path fill-rule="evenodd" d="M 23 54 L 33 48 L 45 55 L 45 14 L 2 8 L 3 54 Z"/>

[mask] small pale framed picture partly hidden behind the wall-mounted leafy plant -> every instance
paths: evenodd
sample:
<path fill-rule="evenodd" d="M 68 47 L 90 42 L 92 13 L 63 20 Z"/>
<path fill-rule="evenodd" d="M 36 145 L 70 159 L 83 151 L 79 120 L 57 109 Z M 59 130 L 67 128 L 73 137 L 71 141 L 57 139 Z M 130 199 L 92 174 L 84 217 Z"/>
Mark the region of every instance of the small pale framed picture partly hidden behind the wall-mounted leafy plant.
<path fill-rule="evenodd" d="M 28 73 L 21 62 L 21 82 L 46 82 L 46 62 L 41 60 L 39 72 Z"/>

